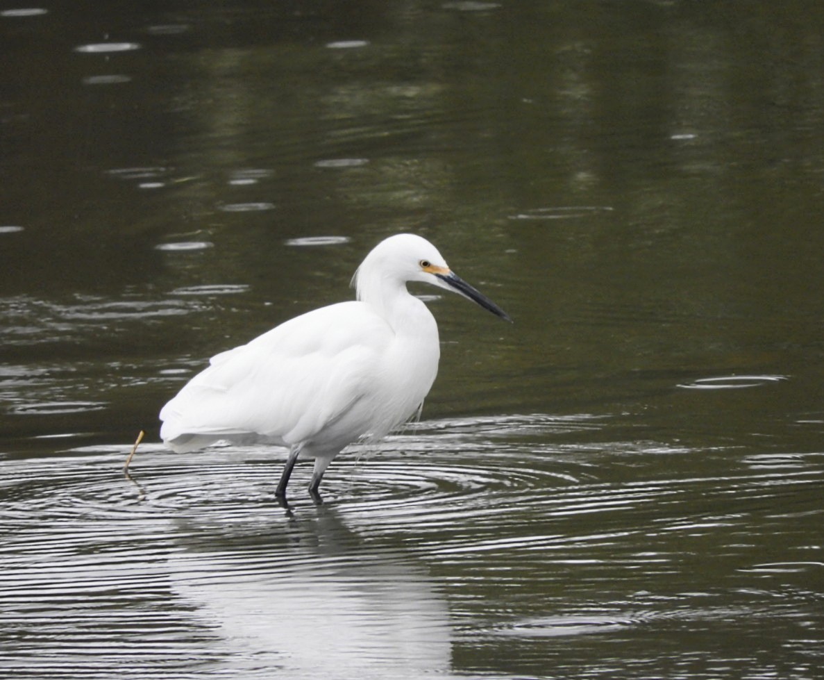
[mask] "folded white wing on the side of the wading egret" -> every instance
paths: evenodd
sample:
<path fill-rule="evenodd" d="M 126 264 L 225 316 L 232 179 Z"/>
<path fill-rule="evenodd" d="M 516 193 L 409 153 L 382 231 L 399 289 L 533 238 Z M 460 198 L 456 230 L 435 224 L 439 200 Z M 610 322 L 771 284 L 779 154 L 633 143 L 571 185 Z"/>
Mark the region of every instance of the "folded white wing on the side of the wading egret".
<path fill-rule="evenodd" d="M 178 451 L 220 438 L 287 445 L 311 440 L 371 393 L 393 338 L 386 321 L 363 302 L 340 302 L 286 321 L 215 355 L 163 407 L 161 436 Z"/>

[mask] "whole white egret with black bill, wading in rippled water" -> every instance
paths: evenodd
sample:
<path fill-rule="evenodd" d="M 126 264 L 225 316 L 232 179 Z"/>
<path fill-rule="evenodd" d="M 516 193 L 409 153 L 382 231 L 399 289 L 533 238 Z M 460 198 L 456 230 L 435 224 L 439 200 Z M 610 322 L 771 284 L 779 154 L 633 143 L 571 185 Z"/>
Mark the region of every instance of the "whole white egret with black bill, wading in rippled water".
<path fill-rule="evenodd" d="M 160 412 L 177 452 L 218 440 L 289 448 L 275 495 L 298 459 L 314 458 L 317 497 L 326 467 L 347 444 L 382 438 L 409 420 L 438 373 L 432 312 L 406 284 L 422 281 L 512 321 L 458 277 L 426 239 L 397 234 L 375 246 L 353 278 L 357 301 L 321 307 L 214 356 Z"/>

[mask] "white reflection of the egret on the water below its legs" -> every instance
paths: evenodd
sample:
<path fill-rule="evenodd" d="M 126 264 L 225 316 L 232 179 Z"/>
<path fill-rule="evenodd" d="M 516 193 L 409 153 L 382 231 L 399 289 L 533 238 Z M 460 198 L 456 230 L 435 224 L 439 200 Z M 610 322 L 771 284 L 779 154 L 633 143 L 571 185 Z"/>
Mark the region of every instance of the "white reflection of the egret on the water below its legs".
<path fill-rule="evenodd" d="M 287 534 L 290 544 L 271 554 L 263 540 L 249 554 L 170 560 L 172 588 L 222 638 L 221 672 L 341 680 L 448 672 L 447 604 L 420 565 L 362 550 L 330 509 L 293 520 Z"/>

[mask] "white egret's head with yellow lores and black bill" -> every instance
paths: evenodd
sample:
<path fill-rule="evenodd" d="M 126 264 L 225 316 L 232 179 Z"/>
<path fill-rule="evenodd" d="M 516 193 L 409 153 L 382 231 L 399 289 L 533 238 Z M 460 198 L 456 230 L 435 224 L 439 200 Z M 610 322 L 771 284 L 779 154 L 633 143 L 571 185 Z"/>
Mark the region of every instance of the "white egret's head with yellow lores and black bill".
<path fill-rule="evenodd" d="M 378 276 L 384 281 L 394 280 L 399 284 L 421 281 L 446 288 L 476 302 L 495 316 L 512 321 L 503 309 L 450 270 L 438 249 L 423 237 L 396 234 L 378 243 L 355 273 L 353 283 L 358 289 L 359 299 L 368 295 L 367 288 L 376 284 Z"/>

